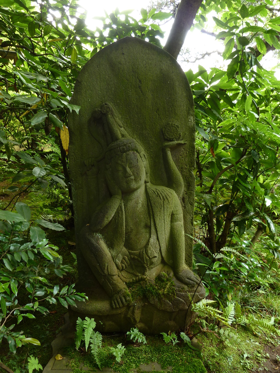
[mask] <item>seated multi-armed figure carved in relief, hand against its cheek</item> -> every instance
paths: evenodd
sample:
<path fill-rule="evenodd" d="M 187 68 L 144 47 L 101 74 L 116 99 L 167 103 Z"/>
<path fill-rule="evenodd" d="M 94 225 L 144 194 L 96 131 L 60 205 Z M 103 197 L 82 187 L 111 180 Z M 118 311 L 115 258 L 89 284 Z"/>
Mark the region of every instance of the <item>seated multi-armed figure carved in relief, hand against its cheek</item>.
<path fill-rule="evenodd" d="M 99 159 L 85 164 L 98 170 L 100 159 L 105 160 L 103 172 L 110 197 L 92 211 L 81 232 L 82 254 L 113 308 L 131 304 L 128 283 L 168 278 L 173 281 L 175 296 L 149 297 L 149 303 L 166 311 L 186 310 L 189 295 L 196 291 L 195 301 L 205 293 L 200 279 L 185 264 L 180 202 L 184 183 L 170 151 L 184 144 L 180 128 L 175 123 L 162 128 L 168 188 L 150 182 L 145 150 L 126 132 L 125 123 L 110 104 L 95 110 L 94 117 L 102 121 L 106 148 Z"/>

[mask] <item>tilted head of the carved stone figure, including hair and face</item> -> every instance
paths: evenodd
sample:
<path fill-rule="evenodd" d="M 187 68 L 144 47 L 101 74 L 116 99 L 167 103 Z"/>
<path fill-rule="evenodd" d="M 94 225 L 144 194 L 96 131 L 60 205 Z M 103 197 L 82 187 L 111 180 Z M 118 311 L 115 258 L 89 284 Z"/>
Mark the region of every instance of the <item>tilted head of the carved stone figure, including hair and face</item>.
<path fill-rule="evenodd" d="M 105 155 L 108 172 L 122 192 L 139 189 L 149 182 L 149 163 L 141 145 L 133 138 L 112 142 Z"/>

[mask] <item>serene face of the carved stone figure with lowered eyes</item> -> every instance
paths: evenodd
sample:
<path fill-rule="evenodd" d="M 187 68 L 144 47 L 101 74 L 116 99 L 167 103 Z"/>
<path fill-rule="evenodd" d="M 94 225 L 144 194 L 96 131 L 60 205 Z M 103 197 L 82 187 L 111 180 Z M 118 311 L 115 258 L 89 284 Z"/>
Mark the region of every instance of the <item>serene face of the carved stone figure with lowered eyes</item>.
<path fill-rule="evenodd" d="M 116 185 L 124 193 L 139 189 L 146 178 L 144 164 L 136 151 L 128 151 L 114 157 L 111 172 Z"/>

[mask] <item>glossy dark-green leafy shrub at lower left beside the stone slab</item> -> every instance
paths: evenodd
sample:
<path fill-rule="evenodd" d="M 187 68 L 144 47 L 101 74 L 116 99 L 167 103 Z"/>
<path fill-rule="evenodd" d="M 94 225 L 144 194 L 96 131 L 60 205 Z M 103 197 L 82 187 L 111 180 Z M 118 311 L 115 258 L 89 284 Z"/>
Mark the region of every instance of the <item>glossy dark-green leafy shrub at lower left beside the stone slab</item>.
<path fill-rule="evenodd" d="M 1 219 L 6 220 L 0 220 L 0 343 L 6 339 L 13 353 L 28 343 L 40 345 L 37 339 L 13 331 L 13 321 L 19 324 L 24 317 L 35 319 L 34 311 L 46 314 L 49 311 L 41 305 L 43 301 L 55 304 L 58 300 L 67 308 L 68 304 L 75 306 L 75 300 L 85 298 L 84 294 L 75 292 L 75 284 L 59 292 L 59 286 L 53 286 L 44 277 L 50 270 L 62 276 L 69 269 L 60 266 L 59 249 L 49 244 L 45 232 L 30 224 L 31 209 L 27 204 L 17 202 L 15 208 L 16 213 L 0 211 Z M 52 227 L 64 229 L 57 223 L 50 223 L 49 228 Z M 27 291 L 24 303 L 23 291 Z"/>

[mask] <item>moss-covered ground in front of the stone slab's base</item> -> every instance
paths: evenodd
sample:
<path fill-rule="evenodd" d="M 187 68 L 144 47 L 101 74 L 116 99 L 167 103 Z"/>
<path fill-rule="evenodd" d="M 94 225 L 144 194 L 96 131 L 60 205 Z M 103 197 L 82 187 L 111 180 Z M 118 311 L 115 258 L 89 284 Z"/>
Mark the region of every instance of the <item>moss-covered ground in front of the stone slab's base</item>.
<path fill-rule="evenodd" d="M 194 325 L 196 331 L 197 325 Z M 162 372 L 168 372 L 172 367 L 174 373 L 214 372 L 277 372 L 280 368 L 280 339 L 272 335 L 256 335 L 249 329 L 238 327 L 231 332 L 237 335 L 238 342 L 229 335 L 206 332 L 197 336 L 202 350 L 192 350 L 183 341 L 176 345 L 165 344 L 162 336 L 147 336 L 147 344 L 128 341 L 125 335 L 103 335 L 102 348 L 99 350 L 101 367 L 111 367 L 115 372 L 129 373 L 137 370 L 140 364 L 157 362 L 161 364 Z M 180 338 L 178 338 L 180 339 Z M 240 341 L 239 341 L 240 339 Z M 125 346 L 122 360 L 117 363 L 111 352 L 111 347 L 121 343 Z M 90 348 L 88 349 L 90 350 Z M 81 364 L 90 370 L 97 370 L 93 355 L 85 348 L 77 351 L 73 347 L 65 350 L 68 355 L 69 367 L 74 373 L 82 373 Z M 276 370 L 275 370 L 276 369 Z"/>

